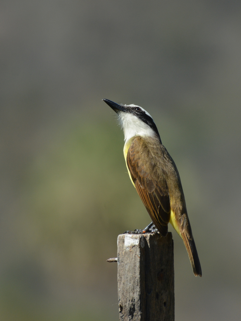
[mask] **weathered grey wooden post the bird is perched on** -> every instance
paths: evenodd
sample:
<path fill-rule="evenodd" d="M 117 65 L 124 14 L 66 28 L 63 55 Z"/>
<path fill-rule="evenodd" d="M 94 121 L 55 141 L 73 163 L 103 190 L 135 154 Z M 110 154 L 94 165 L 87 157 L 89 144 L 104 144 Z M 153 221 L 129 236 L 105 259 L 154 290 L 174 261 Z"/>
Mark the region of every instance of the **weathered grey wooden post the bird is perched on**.
<path fill-rule="evenodd" d="M 174 321 L 172 233 L 121 234 L 117 257 L 120 321 Z"/>

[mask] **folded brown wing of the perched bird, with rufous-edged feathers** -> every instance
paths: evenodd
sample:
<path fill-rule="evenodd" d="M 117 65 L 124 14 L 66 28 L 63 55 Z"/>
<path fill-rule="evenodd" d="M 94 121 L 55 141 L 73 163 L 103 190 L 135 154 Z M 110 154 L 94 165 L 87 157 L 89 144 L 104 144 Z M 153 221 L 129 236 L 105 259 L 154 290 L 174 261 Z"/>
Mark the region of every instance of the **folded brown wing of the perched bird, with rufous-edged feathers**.
<path fill-rule="evenodd" d="M 131 178 L 148 214 L 161 235 L 166 236 L 171 212 L 168 187 L 164 175 L 160 175 L 162 169 L 156 168 L 155 157 L 140 136 L 134 138 L 127 152 L 126 161 Z"/>

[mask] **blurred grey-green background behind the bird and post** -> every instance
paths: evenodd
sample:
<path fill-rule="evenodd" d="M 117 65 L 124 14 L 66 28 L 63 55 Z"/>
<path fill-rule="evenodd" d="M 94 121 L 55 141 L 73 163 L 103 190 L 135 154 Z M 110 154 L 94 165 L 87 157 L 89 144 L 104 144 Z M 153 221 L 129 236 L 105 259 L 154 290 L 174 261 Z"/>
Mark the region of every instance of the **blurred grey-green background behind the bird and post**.
<path fill-rule="evenodd" d="M 241 319 L 241 2 L 2 0 L 0 320 L 118 320 L 117 236 L 150 219 L 103 101 L 154 118 L 202 278 L 176 320 Z"/>

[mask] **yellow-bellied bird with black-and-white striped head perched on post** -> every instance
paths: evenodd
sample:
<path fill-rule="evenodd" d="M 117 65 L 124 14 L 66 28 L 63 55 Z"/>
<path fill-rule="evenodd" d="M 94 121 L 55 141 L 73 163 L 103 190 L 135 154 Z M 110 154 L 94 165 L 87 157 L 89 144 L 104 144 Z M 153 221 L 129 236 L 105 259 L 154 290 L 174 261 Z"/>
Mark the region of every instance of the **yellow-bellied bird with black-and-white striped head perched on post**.
<path fill-rule="evenodd" d="M 162 236 L 170 222 L 183 239 L 195 276 L 202 276 L 176 165 L 163 146 L 153 118 L 136 105 L 103 99 L 118 115 L 125 136 L 124 157 L 132 184 Z"/>

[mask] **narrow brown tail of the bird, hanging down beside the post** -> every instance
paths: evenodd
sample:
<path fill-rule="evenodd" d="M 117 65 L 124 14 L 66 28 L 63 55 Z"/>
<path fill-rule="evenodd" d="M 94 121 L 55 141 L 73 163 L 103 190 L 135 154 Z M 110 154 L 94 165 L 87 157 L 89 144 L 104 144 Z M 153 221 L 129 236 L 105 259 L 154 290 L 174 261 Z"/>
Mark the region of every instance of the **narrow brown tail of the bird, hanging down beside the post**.
<path fill-rule="evenodd" d="M 190 259 L 190 262 L 192 264 L 192 270 L 195 276 L 202 276 L 202 270 L 201 270 L 201 265 L 198 257 L 198 252 L 196 249 L 196 245 L 192 236 L 192 231 L 191 233 L 183 233 L 183 242 L 185 244 L 185 247 L 187 249 L 187 253 Z"/>

